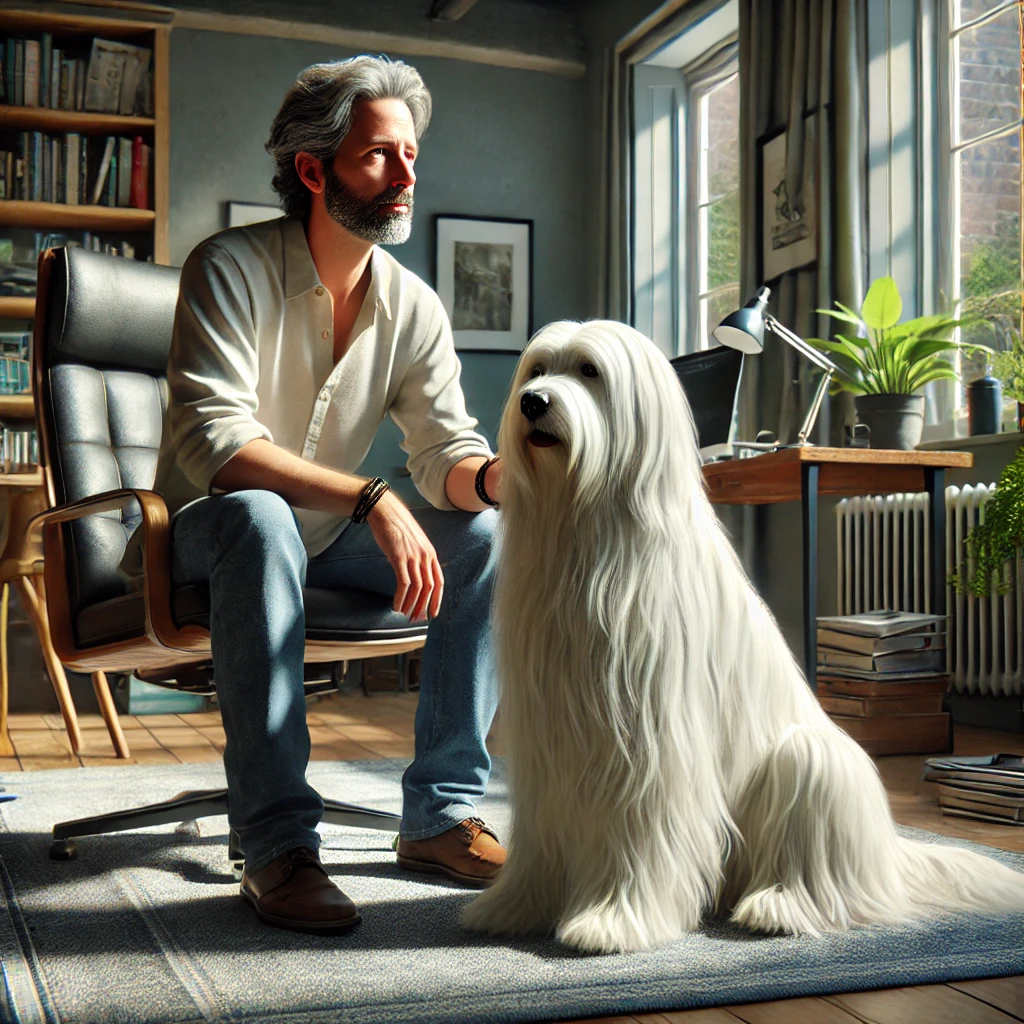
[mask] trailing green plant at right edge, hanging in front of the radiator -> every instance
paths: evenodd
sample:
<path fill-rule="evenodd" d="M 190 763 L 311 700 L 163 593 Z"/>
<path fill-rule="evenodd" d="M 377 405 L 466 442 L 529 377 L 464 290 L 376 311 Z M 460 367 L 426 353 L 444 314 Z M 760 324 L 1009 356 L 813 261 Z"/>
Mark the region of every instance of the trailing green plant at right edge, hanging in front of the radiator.
<path fill-rule="evenodd" d="M 1008 593 L 1013 559 L 1024 548 L 1024 447 L 999 474 L 981 521 L 967 532 L 965 547 L 967 564 L 958 565 L 949 578 L 956 592 L 975 597 Z"/>

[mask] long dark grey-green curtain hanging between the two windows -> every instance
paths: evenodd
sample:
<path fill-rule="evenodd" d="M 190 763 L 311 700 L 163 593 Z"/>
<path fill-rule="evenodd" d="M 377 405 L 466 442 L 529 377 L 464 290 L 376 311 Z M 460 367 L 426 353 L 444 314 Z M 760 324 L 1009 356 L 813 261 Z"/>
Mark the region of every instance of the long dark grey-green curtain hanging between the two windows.
<path fill-rule="evenodd" d="M 857 307 L 866 252 L 866 0 L 739 0 L 741 197 L 740 291 L 762 285 L 770 309 L 801 337 L 828 337 L 815 313 L 836 299 Z M 805 119 L 817 115 L 813 139 Z M 759 280 L 762 266 L 762 165 L 766 139 L 786 132 L 785 175 L 791 202 L 802 201 L 805 147 L 817 164 L 818 254 L 813 263 Z M 813 372 L 812 372 L 813 371 Z M 743 368 L 739 434 L 759 429 L 794 440 L 813 396 L 818 371 L 777 337 Z M 848 395 L 826 403 L 814 440 L 842 443 L 852 418 Z"/>

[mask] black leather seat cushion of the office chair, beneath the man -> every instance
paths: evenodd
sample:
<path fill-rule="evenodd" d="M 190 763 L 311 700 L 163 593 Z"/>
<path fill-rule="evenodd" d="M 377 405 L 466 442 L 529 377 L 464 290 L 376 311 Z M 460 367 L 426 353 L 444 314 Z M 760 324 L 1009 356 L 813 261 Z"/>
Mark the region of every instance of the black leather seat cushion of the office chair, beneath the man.
<path fill-rule="evenodd" d="M 404 640 L 425 636 L 426 625 L 413 625 L 391 609 L 391 600 L 358 590 L 302 591 L 306 609 L 306 639 L 358 643 L 365 640 Z M 210 628 L 209 588 L 198 584 L 178 587 L 171 595 L 174 621 L 179 626 Z M 126 594 L 84 607 L 75 620 L 75 634 L 83 647 L 145 635 L 145 606 L 141 594 Z"/>

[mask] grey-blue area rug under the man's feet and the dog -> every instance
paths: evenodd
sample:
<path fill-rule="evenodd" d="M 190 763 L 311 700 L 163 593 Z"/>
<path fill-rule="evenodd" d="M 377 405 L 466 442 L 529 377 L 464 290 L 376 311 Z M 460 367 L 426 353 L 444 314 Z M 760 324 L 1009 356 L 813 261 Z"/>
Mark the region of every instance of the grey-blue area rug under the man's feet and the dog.
<path fill-rule="evenodd" d="M 325 796 L 396 812 L 402 767 L 316 762 L 309 778 Z M 1024 916 L 950 915 L 822 939 L 756 937 L 712 922 L 655 952 L 617 956 L 480 939 L 458 923 L 471 892 L 401 871 L 390 836 L 333 826 L 324 827 L 323 859 L 364 918 L 341 936 L 257 922 L 229 874 L 226 818 L 205 819 L 199 837 L 166 825 L 82 839 L 74 861 L 48 858 L 55 821 L 223 784 L 218 765 L 0 775 L 18 795 L 0 805 L 7 1019 L 550 1021 L 1024 973 Z M 480 808 L 499 834 L 504 797 L 499 765 Z M 975 848 L 1024 870 L 1024 856 Z"/>

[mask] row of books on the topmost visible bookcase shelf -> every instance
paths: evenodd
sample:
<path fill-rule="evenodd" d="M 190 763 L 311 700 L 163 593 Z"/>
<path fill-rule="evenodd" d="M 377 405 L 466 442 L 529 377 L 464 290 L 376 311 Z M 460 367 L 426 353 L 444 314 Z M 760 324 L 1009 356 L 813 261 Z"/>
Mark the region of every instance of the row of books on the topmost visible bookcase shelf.
<path fill-rule="evenodd" d="M 72 53 L 75 55 L 72 55 Z M 59 111 L 153 116 L 152 50 L 112 39 L 61 50 L 53 36 L 6 39 L 0 48 L 0 101 Z"/>

